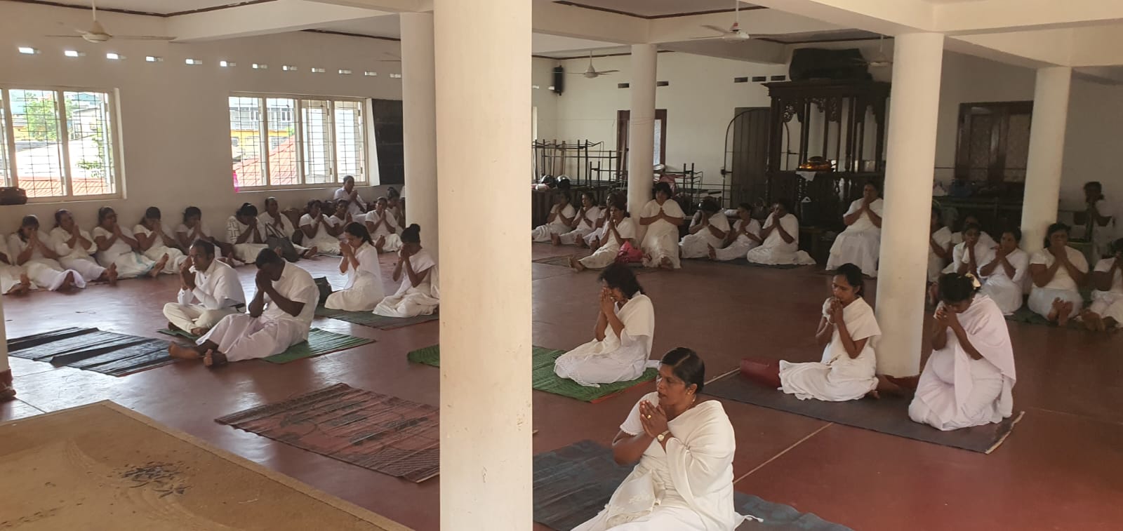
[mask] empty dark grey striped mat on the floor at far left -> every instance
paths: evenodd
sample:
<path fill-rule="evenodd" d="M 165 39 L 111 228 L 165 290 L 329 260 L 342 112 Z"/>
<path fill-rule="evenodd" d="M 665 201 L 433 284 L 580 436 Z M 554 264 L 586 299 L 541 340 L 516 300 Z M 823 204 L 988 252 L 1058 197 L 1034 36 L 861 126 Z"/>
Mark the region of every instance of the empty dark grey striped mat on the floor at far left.
<path fill-rule="evenodd" d="M 174 361 L 167 341 L 106 332 L 95 328 L 67 328 L 8 341 L 17 358 L 55 366 L 125 376 Z"/>

